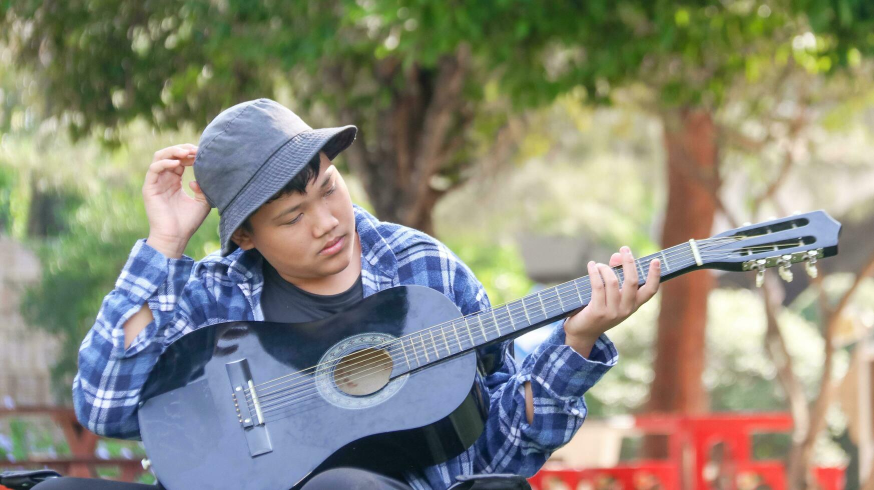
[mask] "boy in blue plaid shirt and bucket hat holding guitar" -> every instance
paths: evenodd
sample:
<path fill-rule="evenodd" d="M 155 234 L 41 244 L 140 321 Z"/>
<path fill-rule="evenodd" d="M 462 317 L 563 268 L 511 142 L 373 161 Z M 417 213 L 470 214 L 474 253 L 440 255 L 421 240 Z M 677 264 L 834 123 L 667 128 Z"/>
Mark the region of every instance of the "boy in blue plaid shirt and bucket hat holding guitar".
<path fill-rule="evenodd" d="M 440 241 L 380 222 L 351 203 L 331 160 L 355 134 L 353 126 L 314 130 L 288 108 L 260 99 L 219 114 L 198 147 L 156 152 L 142 186 L 149 238 L 135 244 L 81 345 L 73 401 L 82 424 L 109 437 L 139 438 L 136 404 L 149 369 L 170 342 L 208 324 L 312 321 L 406 284 L 433 287 L 462 314 L 489 307 L 480 282 Z M 194 197 L 181 186 L 189 166 Z M 212 207 L 220 215 L 221 250 L 194 262 L 183 251 Z M 620 264 L 627 278 L 621 288 L 610 269 Z M 658 288 L 657 261 L 638 288 L 628 247 L 614 253 L 610 266 L 589 263 L 591 302 L 521 365 L 510 342 L 478 352 L 489 416 L 466 452 L 392 475 L 329 470 L 305 488 L 365 481 L 361 488 L 447 488 L 457 475 L 536 473 L 577 431 L 586 416 L 583 394 L 616 362 L 604 332 Z"/>

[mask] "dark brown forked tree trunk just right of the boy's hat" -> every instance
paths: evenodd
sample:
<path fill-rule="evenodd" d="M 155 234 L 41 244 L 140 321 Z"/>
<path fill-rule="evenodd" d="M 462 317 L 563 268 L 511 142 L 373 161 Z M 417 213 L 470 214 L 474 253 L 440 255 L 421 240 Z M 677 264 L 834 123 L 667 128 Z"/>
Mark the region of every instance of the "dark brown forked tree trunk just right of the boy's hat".
<path fill-rule="evenodd" d="M 378 83 L 393 87 L 385 108 L 341 101 L 346 120 L 367 124 L 344 155 L 380 219 L 434 234 L 434 205 L 461 183 L 454 165 L 470 122 L 461 93 L 468 59 L 465 46 L 433 69 L 412 66 L 402 72 L 397 60 L 386 59 L 374 67 Z M 355 78 L 342 67 L 332 78 L 342 100 Z M 454 178 L 441 178 L 447 173 Z"/>

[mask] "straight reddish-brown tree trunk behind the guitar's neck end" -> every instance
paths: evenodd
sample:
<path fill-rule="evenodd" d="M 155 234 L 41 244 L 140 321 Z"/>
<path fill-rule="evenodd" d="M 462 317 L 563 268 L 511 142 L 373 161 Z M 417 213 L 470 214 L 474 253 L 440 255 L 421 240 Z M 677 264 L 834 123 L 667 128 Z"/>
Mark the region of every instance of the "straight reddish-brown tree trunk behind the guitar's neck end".
<path fill-rule="evenodd" d="M 717 204 L 718 151 L 716 128 L 704 109 L 662 114 L 667 149 L 668 205 L 662 247 L 690 238 L 711 236 Z M 683 415 L 707 410 L 701 375 L 704 371 L 704 326 L 707 295 L 713 285 L 709 271 L 697 271 L 661 286 L 655 379 L 649 388 L 647 411 Z M 649 438 L 644 451 L 664 456 L 661 441 Z"/>

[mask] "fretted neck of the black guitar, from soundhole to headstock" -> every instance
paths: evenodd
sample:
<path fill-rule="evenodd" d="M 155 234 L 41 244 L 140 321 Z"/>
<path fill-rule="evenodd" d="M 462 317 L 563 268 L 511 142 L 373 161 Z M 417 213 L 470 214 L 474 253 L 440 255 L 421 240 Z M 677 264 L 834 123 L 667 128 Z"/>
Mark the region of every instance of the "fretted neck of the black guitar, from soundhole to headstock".
<path fill-rule="evenodd" d="M 662 280 L 669 280 L 698 266 L 696 253 L 696 249 L 687 242 L 636 259 L 638 285 L 646 281 L 649 263 L 653 259 L 659 259 Z M 624 280 L 622 266 L 613 267 L 613 270 L 621 284 Z M 583 276 L 518 300 L 406 335 L 395 341 L 395 352 L 402 354 L 396 356 L 396 362 L 403 362 L 396 363 L 392 376 L 523 335 L 571 315 L 585 307 L 591 297 L 589 276 Z"/>

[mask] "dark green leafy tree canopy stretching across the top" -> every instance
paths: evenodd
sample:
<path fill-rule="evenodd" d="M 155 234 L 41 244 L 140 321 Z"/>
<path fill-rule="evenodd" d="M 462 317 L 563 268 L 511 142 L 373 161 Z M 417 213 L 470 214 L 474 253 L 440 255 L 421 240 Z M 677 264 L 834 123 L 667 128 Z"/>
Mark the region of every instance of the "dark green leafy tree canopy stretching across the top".
<path fill-rule="evenodd" d="M 283 91 L 332 110 L 388 104 L 411 68 L 468 45 L 467 94 L 489 80 L 519 106 L 574 87 L 607 101 L 641 81 L 669 106 L 718 106 L 735 79 L 801 66 L 831 73 L 874 52 L 866 0 L 452 3 L 99 2 L 0 7 L 0 36 L 34 73 L 45 114 L 109 139 L 144 117 L 205 125 L 235 102 Z M 392 72 L 392 67 L 404 70 Z M 389 78 L 385 76 L 389 75 Z M 372 114 L 372 113 L 371 113 Z M 359 121 L 366 124 L 366 121 Z M 378 129 L 378 128 L 374 128 Z"/>

